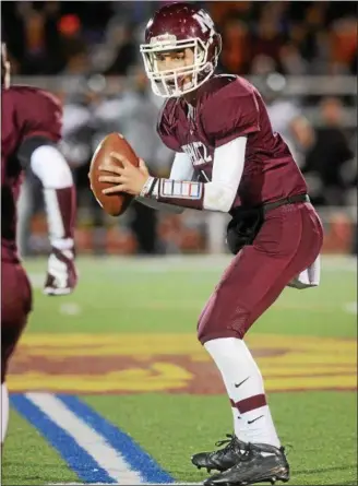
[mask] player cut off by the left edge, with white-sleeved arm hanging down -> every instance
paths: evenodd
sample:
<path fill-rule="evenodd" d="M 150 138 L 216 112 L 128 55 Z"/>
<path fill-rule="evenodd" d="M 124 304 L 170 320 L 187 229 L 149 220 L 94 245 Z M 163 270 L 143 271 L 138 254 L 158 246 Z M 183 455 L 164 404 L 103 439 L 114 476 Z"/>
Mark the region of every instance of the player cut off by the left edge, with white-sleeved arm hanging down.
<path fill-rule="evenodd" d="M 29 166 L 44 186 L 51 253 L 44 293 L 65 295 L 77 276 L 73 225 L 75 191 L 71 170 L 58 151 L 61 107 L 49 93 L 10 86 L 10 63 L 1 45 L 1 444 L 9 417 L 5 376 L 28 313 L 32 291 L 16 248 L 16 201 L 23 168 Z"/>

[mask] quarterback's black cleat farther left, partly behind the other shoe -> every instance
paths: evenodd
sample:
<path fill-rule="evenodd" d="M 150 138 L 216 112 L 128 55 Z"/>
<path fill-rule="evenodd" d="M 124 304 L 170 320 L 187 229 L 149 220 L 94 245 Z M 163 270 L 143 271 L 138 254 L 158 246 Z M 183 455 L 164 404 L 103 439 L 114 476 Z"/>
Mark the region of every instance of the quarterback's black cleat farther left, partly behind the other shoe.
<path fill-rule="evenodd" d="M 226 444 L 223 449 L 213 452 L 200 452 L 191 458 L 191 462 L 200 470 L 206 467 L 210 473 L 212 470 L 227 471 L 237 464 L 241 451 L 246 450 L 248 444 L 239 440 L 236 436 L 226 435 L 228 439 L 219 440 L 215 443 L 217 447 Z"/>

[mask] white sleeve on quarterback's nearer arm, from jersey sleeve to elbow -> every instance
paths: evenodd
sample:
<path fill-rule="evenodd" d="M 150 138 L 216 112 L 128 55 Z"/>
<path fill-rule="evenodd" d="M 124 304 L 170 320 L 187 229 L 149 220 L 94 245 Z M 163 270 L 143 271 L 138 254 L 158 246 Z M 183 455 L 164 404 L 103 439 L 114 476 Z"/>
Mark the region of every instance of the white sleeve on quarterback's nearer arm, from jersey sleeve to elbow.
<path fill-rule="evenodd" d="M 203 209 L 228 213 L 241 180 L 247 137 L 215 149 L 212 181 L 205 183 Z"/>

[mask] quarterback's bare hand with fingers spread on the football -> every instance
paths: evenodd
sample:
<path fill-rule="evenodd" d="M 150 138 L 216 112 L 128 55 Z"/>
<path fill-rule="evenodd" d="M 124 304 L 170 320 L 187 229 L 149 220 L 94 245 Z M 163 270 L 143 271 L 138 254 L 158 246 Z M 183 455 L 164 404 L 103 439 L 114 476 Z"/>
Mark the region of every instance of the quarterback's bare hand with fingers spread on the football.
<path fill-rule="evenodd" d="M 104 189 L 103 193 L 114 194 L 116 192 L 127 192 L 128 194 L 139 195 L 150 177 L 144 161 L 141 158 L 140 166 L 134 167 L 126 157 L 123 157 L 123 155 L 118 154 L 117 152 L 112 152 L 110 155 L 121 162 L 123 167 L 99 167 L 104 173 L 110 173 L 110 176 L 100 176 L 98 180 L 100 182 L 111 182 L 115 185 L 111 188 Z"/>

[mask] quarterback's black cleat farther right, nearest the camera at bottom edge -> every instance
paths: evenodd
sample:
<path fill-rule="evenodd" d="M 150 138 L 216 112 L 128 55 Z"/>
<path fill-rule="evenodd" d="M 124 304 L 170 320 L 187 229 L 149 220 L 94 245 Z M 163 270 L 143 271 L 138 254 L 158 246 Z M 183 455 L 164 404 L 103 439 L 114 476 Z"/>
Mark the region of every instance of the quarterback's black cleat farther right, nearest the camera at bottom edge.
<path fill-rule="evenodd" d="M 248 443 L 248 450 L 240 455 L 236 465 L 222 474 L 215 474 L 204 482 L 205 486 L 243 486 L 289 479 L 289 465 L 284 448 L 277 449 L 265 443 Z M 263 455 L 267 453 L 270 455 Z"/>

